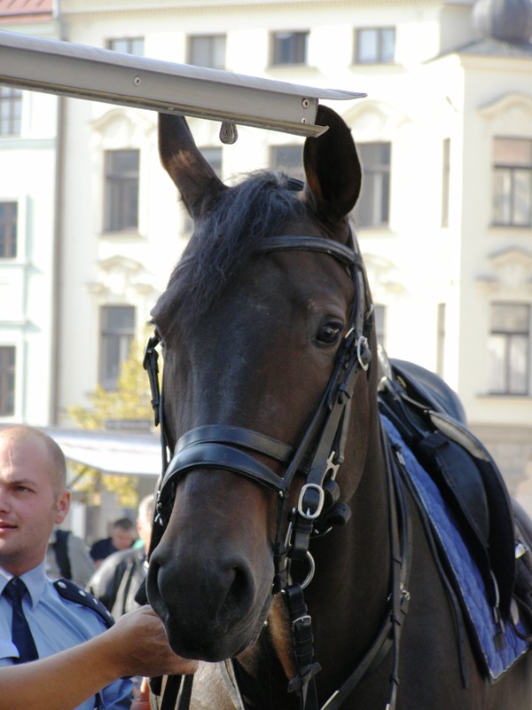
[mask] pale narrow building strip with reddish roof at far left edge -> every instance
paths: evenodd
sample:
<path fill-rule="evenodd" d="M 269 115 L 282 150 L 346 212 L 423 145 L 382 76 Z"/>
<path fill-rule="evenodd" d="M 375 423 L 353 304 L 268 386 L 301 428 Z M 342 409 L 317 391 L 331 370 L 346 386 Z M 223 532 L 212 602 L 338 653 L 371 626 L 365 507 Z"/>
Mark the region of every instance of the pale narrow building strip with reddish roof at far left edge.
<path fill-rule="evenodd" d="M 50 2 L 0 0 L 0 29 L 56 39 Z M 59 99 L 0 87 L 0 422 L 56 408 Z"/>

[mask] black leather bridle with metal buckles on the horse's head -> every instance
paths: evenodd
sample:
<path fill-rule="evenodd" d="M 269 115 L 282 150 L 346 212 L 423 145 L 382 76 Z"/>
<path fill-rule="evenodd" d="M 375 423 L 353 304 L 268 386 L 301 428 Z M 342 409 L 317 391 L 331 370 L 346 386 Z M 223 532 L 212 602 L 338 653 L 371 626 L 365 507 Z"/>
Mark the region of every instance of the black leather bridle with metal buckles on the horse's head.
<path fill-rule="evenodd" d="M 189 471 L 229 470 L 277 493 L 272 595 L 282 593 L 286 599 L 292 625 L 295 665 L 298 670 L 289 683 L 288 691 L 298 694 L 300 710 L 318 710 L 314 675 L 320 667 L 314 659 L 311 618 L 303 597 L 303 589 L 314 574 L 314 560 L 309 552 L 309 543 L 311 536 L 325 534 L 332 525 L 346 523 L 350 515 L 348 506 L 339 502 L 340 489 L 335 478 L 344 460 L 351 398 L 356 381 L 361 374 L 366 374 L 370 367 L 372 352 L 369 337 L 374 328 L 373 309 L 362 257 L 350 230 L 348 246 L 323 237 L 289 234 L 270 237 L 255 249 L 254 254 L 278 251 L 313 251 L 332 256 L 351 274 L 355 296 L 349 313 L 348 327 L 340 343 L 325 392 L 296 448 L 254 430 L 211 424 L 187 431 L 178 440 L 174 455 L 168 462 L 168 439 L 163 422 L 162 393 L 159 389 L 157 367 L 156 348 L 160 343 L 160 335 L 156 330 L 146 345 L 144 360 L 152 387 L 155 424 L 160 423 L 163 461 L 150 552 L 157 546 L 165 526 L 168 525 L 176 485 Z M 404 534 L 407 525 L 402 492 L 398 490 L 398 478 L 392 475 L 391 457 L 386 446 L 385 451 L 388 459 L 388 509 L 393 560 L 389 609 L 372 648 L 342 688 L 323 706 L 327 710 L 340 707 L 356 683 L 379 666 L 392 644 L 395 646 L 395 656 L 398 654 L 397 629 L 406 613 L 408 602 L 408 565 L 405 563 L 408 546 L 407 535 Z M 279 476 L 258 461 L 253 454 L 262 454 L 278 461 L 284 467 L 285 474 Z M 305 476 L 306 481 L 302 485 L 297 506 L 290 508 L 288 494 L 296 473 Z M 397 506 L 396 503 L 400 505 Z M 399 509 L 400 520 L 396 508 Z M 291 565 L 296 560 L 309 565 L 307 577 L 301 583 L 293 583 L 291 579 Z M 388 708 L 395 706 L 396 673 L 392 675 Z M 190 690 L 185 695 L 190 695 Z M 182 694 L 179 710 L 188 707 L 188 701 L 183 700 L 183 697 Z"/>

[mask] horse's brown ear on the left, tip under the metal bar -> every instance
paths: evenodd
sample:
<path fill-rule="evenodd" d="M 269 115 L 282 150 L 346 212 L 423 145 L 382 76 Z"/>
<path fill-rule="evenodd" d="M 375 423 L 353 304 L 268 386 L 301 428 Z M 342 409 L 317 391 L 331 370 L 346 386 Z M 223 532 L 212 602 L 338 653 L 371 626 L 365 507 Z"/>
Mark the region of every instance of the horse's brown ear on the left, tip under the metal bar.
<path fill-rule="evenodd" d="M 212 209 L 226 186 L 196 146 L 183 116 L 159 114 L 159 155 L 192 219 Z"/>

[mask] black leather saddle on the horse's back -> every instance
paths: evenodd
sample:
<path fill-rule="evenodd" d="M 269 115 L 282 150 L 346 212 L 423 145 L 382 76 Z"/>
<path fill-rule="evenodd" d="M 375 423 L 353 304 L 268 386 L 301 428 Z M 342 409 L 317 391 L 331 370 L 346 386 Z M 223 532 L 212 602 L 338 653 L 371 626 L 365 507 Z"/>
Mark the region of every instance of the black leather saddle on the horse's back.
<path fill-rule="evenodd" d="M 388 360 L 384 351 L 379 351 L 379 368 L 381 413 L 393 422 L 458 520 L 489 604 L 502 619 L 511 619 L 516 530 L 497 464 L 467 429 L 457 394 L 438 375 L 411 362 Z M 528 586 L 522 584 L 522 574 L 520 582 Z"/>

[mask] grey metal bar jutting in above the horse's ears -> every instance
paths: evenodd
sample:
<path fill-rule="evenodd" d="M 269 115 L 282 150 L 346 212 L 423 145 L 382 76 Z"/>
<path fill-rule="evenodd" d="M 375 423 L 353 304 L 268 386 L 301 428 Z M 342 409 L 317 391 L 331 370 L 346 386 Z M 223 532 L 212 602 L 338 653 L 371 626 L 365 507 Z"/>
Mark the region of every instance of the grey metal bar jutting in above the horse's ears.
<path fill-rule="evenodd" d="M 301 136 L 326 130 L 315 124 L 319 99 L 365 96 L 6 31 L 0 84 Z"/>

